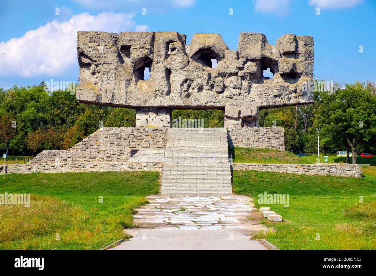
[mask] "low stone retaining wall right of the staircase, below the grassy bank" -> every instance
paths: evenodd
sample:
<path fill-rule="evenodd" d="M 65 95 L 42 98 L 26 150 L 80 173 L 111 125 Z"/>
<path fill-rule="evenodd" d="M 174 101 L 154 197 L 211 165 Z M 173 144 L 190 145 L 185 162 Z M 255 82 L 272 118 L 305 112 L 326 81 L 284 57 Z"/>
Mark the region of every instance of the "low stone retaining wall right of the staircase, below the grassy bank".
<path fill-rule="evenodd" d="M 259 172 L 283 172 L 309 175 L 335 175 L 360 177 L 361 165 L 352 164 L 253 164 L 232 163 L 232 170 L 257 170 Z"/>

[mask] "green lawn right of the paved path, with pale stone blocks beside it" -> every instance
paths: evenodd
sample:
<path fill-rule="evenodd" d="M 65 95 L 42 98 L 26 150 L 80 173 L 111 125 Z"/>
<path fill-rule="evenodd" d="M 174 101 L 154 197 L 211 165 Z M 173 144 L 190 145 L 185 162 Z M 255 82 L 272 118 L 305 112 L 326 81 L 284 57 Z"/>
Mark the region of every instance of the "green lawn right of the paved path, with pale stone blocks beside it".
<path fill-rule="evenodd" d="M 361 178 L 234 171 L 233 187 L 284 219 L 261 219 L 274 231 L 253 238 L 266 238 L 281 250 L 376 249 L 375 167 L 364 167 Z M 289 206 L 259 205 L 258 194 L 264 192 L 289 194 Z"/>

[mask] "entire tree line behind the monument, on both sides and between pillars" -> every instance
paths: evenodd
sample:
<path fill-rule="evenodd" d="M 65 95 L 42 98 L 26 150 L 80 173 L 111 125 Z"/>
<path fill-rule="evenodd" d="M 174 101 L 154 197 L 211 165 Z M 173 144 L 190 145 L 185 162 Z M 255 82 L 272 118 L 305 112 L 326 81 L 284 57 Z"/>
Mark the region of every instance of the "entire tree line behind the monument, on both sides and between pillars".
<path fill-rule="evenodd" d="M 376 86 L 335 85 L 314 91 L 314 103 L 260 110 L 260 127 L 284 127 L 285 149 L 294 153 L 376 151 Z M 135 110 L 82 104 L 69 91 L 38 86 L 0 88 L 0 149 L 14 155 L 68 149 L 100 127 L 135 127 Z M 203 119 L 204 127 L 223 127 L 223 110 L 173 110 L 171 119 Z"/>

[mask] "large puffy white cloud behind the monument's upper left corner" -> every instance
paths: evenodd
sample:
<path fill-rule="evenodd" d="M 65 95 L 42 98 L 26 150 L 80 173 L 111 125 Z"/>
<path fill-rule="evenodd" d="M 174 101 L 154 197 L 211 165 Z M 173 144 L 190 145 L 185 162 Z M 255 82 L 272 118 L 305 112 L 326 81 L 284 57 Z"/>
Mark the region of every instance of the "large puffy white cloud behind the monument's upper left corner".
<path fill-rule="evenodd" d="M 95 16 L 85 12 L 67 21 L 55 19 L 20 38 L 0 42 L 0 77 L 56 76 L 68 70 L 77 71 L 77 31 L 118 33 L 148 29 L 146 25 L 137 25 L 133 16 L 113 12 Z"/>

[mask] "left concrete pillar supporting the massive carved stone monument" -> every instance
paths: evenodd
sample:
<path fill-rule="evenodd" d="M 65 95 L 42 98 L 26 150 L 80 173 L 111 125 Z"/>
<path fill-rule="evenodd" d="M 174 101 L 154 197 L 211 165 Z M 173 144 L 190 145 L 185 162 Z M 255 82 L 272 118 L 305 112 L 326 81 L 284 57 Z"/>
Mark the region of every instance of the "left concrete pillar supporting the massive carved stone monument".
<path fill-rule="evenodd" d="M 136 127 L 171 127 L 171 111 L 166 107 L 139 107 Z"/>

